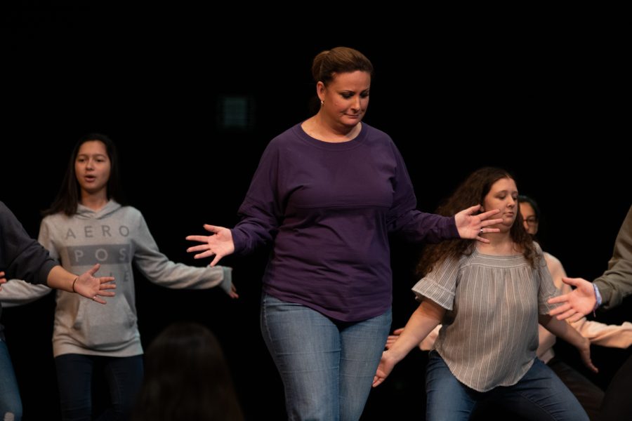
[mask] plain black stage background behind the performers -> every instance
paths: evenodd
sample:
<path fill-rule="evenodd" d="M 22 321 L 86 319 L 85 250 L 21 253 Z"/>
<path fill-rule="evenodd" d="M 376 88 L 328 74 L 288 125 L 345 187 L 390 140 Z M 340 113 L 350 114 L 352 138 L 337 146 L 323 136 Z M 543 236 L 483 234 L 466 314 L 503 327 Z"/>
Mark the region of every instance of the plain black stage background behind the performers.
<path fill-rule="evenodd" d="M 311 115 L 312 58 L 338 45 L 373 62 L 365 121 L 399 147 L 421 210 L 432 211 L 480 166 L 506 168 L 520 192 L 539 201 L 543 248 L 570 276 L 593 279 L 605 269 L 631 205 L 624 152 L 629 67 L 616 25 L 464 26 L 449 16 L 437 22 L 402 13 L 393 31 L 356 15 L 312 24 L 237 11 L 114 11 L 71 2 L 3 15 L 0 200 L 34 237 L 72 146 L 97 131 L 117 142 L 126 196 L 161 250 L 171 260 L 204 265 L 185 253 L 185 236 L 202 233 L 204 222 L 237 222 L 265 146 Z M 220 125 L 224 95 L 251 100 L 249 128 Z M 397 239 L 392 245 L 397 328 L 416 307 L 409 288 L 421 246 Z M 220 290 L 168 290 L 136 274 L 143 345 L 172 321 L 209 326 L 253 420 L 284 417 L 282 384 L 258 330 L 267 253 L 223 261 L 235 268 L 236 301 Z M 631 320 L 624 304 L 598 320 Z M 49 295 L 3 313 L 26 421 L 58 418 L 54 306 Z M 557 349 L 581 369 L 574 349 Z M 607 387 L 627 354 L 593 347 L 601 372 L 583 372 Z M 415 350 L 402 361 L 371 392 L 362 420 L 412 413 L 421 419 L 425 359 Z"/>

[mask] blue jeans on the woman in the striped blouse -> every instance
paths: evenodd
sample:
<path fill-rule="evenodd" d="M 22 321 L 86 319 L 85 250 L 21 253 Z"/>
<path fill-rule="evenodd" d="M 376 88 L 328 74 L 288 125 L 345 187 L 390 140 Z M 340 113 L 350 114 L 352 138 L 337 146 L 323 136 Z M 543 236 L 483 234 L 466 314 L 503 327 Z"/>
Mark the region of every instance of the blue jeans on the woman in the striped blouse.
<path fill-rule="evenodd" d="M 531 420 L 588 421 L 577 398 L 539 359 L 515 385 L 477 392 L 456 380 L 441 356 L 432 351 L 426 368 L 426 393 L 428 421 L 466 421 L 483 399 L 508 406 Z"/>

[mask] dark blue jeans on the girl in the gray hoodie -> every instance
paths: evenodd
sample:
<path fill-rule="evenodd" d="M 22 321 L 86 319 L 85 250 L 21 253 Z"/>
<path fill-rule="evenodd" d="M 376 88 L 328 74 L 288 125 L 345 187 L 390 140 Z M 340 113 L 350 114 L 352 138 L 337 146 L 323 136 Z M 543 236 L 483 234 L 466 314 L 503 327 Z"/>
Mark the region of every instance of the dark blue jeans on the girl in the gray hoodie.
<path fill-rule="evenodd" d="M 92 420 L 92 373 L 103 370 L 112 407 L 98 420 L 128 420 L 143 382 L 143 356 L 63 354 L 55 357 L 62 420 Z"/>

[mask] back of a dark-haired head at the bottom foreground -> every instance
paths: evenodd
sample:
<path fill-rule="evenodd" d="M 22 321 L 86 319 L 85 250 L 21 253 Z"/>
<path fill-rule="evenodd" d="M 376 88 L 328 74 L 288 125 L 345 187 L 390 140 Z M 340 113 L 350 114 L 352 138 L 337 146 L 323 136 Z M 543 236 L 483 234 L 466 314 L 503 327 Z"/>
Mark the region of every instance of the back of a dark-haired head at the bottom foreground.
<path fill-rule="evenodd" d="M 171 324 L 145 354 L 143 387 L 132 420 L 244 419 L 224 354 L 199 323 Z"/>

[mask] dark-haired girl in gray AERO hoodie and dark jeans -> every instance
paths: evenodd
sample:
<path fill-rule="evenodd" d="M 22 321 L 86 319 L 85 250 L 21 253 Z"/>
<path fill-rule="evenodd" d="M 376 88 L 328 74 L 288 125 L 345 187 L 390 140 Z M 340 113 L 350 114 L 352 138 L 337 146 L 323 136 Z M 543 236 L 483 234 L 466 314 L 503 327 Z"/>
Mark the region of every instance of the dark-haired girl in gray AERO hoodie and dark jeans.
<path fill-rule="evenodd" d="M 136 321 L 132 262 L 147 279 L 167 288 L 220 286 L 237 298 L 229 267 L 192 267 L 160 253 L 143 215 L 120 203 L 118 160 L 107 136 L 84 136 L 74 147 L 60 193 L 41 222 L 39 242 L 65 269 L 85 272 L 94 262 L 117 279 L 107 306 L 58 291 L 53 354 L 62 418 L 91 420 L 93 370 L 103 369 L 117 420 L 126 420 L 143 380 L 143 348 Z M 46 295 L 45 286 L 10 282 L 5 303 Z"/>

